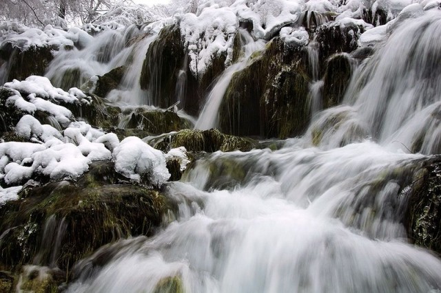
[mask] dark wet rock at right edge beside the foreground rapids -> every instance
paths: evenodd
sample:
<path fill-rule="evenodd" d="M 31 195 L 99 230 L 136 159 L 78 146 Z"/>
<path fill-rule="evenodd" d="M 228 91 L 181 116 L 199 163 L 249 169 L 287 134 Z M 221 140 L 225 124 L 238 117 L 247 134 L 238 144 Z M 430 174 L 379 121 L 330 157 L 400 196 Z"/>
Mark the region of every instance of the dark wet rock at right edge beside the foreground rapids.
<path fill-rule="evenodd" d="M 429 160 L 409 187 L 405 221 L 409 238 L 441 254 L 441 158 Z"/>

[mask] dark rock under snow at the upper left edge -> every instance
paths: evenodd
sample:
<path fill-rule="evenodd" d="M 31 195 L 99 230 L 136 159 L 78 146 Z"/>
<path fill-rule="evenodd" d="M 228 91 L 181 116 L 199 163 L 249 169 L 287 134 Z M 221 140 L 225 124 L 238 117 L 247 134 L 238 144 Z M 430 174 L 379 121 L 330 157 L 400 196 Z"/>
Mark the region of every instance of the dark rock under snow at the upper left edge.
<path fill-rule="evenodd" d="M 31 45 L 27 50 L 21 50 L 6 43 L 1 47 L 0 52 L 1 58 L 8 60 L 8 81 L 25 80 L 31 75 L 43 76 L 54 58 L 50 46 Z"/>

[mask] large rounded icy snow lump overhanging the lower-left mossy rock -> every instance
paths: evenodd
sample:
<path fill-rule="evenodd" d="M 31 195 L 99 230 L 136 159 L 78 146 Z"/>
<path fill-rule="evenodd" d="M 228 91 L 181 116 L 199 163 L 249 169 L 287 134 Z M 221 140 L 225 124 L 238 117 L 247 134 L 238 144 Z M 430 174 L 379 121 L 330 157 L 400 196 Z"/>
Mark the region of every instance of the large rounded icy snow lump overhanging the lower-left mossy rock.
<path fill-rule="evenodd" d="M 162 151 L 152 148 L 141 138 L 130 136 L 121 141 L 113 152 L 115 169 L 134 182 L 147 176 L 152 184 L 162 185 L 170 178 Z"/>

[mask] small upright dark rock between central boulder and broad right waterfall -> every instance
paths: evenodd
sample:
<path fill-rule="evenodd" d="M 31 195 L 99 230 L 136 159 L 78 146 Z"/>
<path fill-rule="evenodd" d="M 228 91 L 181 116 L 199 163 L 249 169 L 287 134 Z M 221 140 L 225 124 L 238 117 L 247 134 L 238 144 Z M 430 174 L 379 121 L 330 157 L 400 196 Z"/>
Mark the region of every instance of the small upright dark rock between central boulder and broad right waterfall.
<path fill-rule="evenodd" d="M 327 60 L 323 78 L 323 107 L 340 105 L 352 75 L 351 59 L 347 54 L 336 54 Z"/>

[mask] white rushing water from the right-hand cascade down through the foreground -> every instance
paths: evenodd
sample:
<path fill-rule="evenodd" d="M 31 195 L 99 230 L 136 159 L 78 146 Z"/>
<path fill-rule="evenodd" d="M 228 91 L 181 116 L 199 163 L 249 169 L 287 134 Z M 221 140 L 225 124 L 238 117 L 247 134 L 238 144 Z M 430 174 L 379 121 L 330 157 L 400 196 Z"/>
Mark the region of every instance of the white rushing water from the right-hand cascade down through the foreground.
<path fill-rule="evenodd" d="M 68 292 L 440 292 L 440 259 L 402 224 L 424 156 L 391 141 L 424 129 L 422 151 L 438 151 L 440 25 L 430 12 L 397 28 L 303 138 L 198 160 L 165 188 L 170 225 L 85 259 Z"/>

